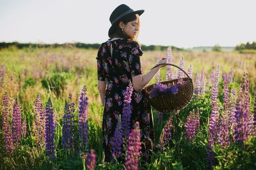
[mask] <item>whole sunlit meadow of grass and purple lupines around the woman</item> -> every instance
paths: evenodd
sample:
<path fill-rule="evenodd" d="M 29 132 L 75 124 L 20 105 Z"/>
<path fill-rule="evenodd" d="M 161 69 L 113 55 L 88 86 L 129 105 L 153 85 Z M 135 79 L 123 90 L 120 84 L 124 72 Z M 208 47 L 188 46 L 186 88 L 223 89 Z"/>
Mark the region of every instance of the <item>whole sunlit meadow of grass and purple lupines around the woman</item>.
<path fill-rule="evenodd" d="M 95 49 L 72 46 L 1 49 L 1 170 L 255 169 L 256 54 L 171 47 L 145 51 L 143 73 L 168 56 L 168 63 L 193 79 L 193 99 L 172 113 L 152 108 L 155 148 L 144 162 L 139 123 L 130 122 L 130 84 L 120 101 L 123 116 L 117 118 L 108 163 L 102 150 L 104 108 L 96 56 Z M 173 66 L 161 68 L 150 82 L 155 84 L 151 97 L 166 91 L 177 94 L 182 77 L 186 75 Z M 160 84 L 170 79 L 179 79 L 177 86 Z"/>

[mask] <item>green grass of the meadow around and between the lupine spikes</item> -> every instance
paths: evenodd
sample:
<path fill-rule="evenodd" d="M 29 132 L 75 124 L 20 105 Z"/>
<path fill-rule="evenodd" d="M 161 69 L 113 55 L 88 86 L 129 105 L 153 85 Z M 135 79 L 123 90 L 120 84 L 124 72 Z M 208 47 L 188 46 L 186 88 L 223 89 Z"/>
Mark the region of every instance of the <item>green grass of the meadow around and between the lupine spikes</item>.
<path fill-rule="evenodd" d="M 142 49 L 143 51 L 143 49 Z M 145 51 L 141 60 L 143 73 L 147 73 L 154 65 L 157 59 L 166 55 L 166 51 Z M 86 85 L 88 97 L 88 149 L 94 149 L 97 155 L 95 169 L 125 169 L 122 163 L 104 163 L 102 162 L 102 139 L 101 123 L 103 106 L 100 101 L 97 90 L 97 50 L 70 48 L 38 48 L 38 49 L 2 49 L 0 51 L 0 169 L 85 169 L 85 157 L 81 157 L 81 146 L 79 143 L 79 97 L 81 90 Z M 212 87 L 214 84 L 214 73 L 216 68 L 220 68 L 220 81 L 217 86 L 218 96 L 218 117 L 220 117 L 218 126 L 223 124 L 223 89 L 224 81 L 222 75 L 233 74 L 231 82 L 227 84 L 229 93 L 235 88 L 236 102 L 244 101 L 243 95 L 239 94 L 244 73 L 248 73 L 249 78 L 249 105 L 245 111 L 249 117 L 255 115 L 255 78 L 256 78 L 256 54 L 240 54 L 236 52 L 187 52 L 173 51 L 172 63 L 180 64 L 184 57 L 184 70 L 188 71 L 190 65 L 193 68 L 193 82 L 196 82 L 196 74 L 200 71 L 205 76 L 205 93 L 193 97 L 191 103 L 180 110 L 172 118 L 171 141 L 164 144 L 165 150 L 157 148 L 159 137 L 171 113 L 164 113 L 163 118 L 159 118 L 157 110 L 153 109 L 155 123 L 156 150 L 153 153 L 151 163 L 139 166 L 140 169 L 253 169 L 256 167 L 256 129 L 255 118 L 250 119 L 248 126 L 252 130 L 247 133 L 247 138 L 242 144 L 239 140 L 233 141 L 234 127 L 229 129 L 230 145 L 223 147 L 220 140 L 216 139 L 209 149 L 209 126 L 211 124 L 212 106 Z M 175 74 L 178 70 L 173 68 Z M 164 79 L 166 69 L 162 68 L 160 75 Z M 154 84 L 153 79 L 150 84 Z M 205 84 L 204 84 L 205 85 Z M 10 127 L 13 126 L 13 104 L 18 98 L 20 104 L 21 119 L 26 121 L 26 137 L 21 137 L 20 142 L 15 143 L 16 149 L 12 153 L 6 151 L 4 138 L 4 93 L 10 97 L 8 121 Z M 74 136 L 78 142 L 77 155 L 67 155 L 67 149 L 62 146 L 62 125 L 65 99 L 72 94 L 74 102 Z M 54 144 L 56 150 L 56 160 L 51 160 L 47 156 L 43 147 L 38 146 L 36 135 L 33 133 L 33 121 L 35 120 L 35 102 L 40 95 L 44 107 L 50 97 L 54 112 Z M 230 94 L 229 94 L 230 95 Z M 239 100 L 240 99 L 240 100 Z M 240 102 L 241 102 L 240 101 Z M 231 98 L 229 97 L 229 103 Z M 244 104 L 244 103 L 243 103 Z M 186 121 L 190 112 L 195 112 L 199 108 L 200 129 L 196 132 L 193 141 L 186 139 Z M 243 108 L 243 109 L 245 109 Z M 242 112 L 243 112 L 242 109 Z M 237 110 L 236 110 L 237 111 Z M 230 116 L 228 116 L 229 119 Z M 237 121 L 240 118 L 237 118 Z M 218 131 L 219 132 L 219 131 Z M 14 133 L 14 132 L 13 132 Z M 220 134 L 221 136 L 221 134 Z M 209 150 L 213 153 L 215 162 L 209 162 Z M 68 152 L 71 152 L 68 150 Z M 86 155 L 87 152 L 84 152 Z"/>

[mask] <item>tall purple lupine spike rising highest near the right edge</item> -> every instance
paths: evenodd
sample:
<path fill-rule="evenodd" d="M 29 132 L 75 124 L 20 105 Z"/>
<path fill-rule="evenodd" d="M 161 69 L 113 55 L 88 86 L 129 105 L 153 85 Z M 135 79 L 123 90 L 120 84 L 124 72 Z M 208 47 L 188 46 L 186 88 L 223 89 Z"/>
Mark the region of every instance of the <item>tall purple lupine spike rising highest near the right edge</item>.
<path fill-rule="evenodd" d="M 248 138 L 249 124 L 249 77 L 248 73 L 244 74 L 241 82 L 241 89 L 236 104 L 236 127 L 234 138 L 238 143 L 243 144 Z"/>

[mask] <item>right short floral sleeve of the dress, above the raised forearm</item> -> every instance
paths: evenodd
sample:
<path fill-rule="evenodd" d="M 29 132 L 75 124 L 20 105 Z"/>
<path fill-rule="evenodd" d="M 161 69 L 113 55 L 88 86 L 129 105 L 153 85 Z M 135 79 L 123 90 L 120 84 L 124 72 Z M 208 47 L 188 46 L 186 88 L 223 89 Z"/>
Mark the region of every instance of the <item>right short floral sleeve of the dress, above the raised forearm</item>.
<path fill-rule="evenodd" d="M 141 67 L 141 56 L 142 51 L 139 47 L 139 44 L 137 42 L 132 41 L 131 43 L 131 52 L 129 55 L 129 65 L 130 65 L 130 73 L 132 77 L 135 77 L 136 75 L 142 74 L 142 67 Z"/>

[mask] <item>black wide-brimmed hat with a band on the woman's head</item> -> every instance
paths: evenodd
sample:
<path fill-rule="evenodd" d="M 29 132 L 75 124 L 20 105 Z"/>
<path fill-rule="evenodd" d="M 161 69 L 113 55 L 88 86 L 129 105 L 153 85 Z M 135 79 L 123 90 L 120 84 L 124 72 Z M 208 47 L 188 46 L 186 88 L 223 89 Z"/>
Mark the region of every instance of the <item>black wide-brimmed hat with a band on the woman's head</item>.
<path fill-rule="evenodd" d="M 117 23 L 119 23 L 119 21 L 126 15 L 128 14 L 138 14 L 141 15 L 142 13 L 144 13 L 144 9 L 138 10 L 138 11 L 134 11 L 133 9 L 131 9 L 130 7 L 128 7 L 126 4 L 121 4 L 119 5 L 110 15 L 110 29 L 108 30 L 108 35 L 112 35 L 113 31 L 115 30 L 115 26 Z"/>

